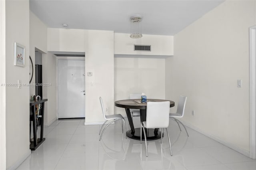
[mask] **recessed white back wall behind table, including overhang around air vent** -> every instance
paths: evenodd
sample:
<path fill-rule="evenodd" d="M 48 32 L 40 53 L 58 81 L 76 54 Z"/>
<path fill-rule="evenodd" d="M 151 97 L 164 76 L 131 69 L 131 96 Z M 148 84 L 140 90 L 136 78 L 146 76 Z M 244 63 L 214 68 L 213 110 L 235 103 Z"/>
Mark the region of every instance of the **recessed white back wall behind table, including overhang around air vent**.
<path fill-rule="evenodd" d="M 135 45 L 151 45 L 151 51 L 134 51 Z M 173 55 L 173 36 L 114 34 L 114 100 L 145 93 L 148 99 L 165 99 L 165 58 Z M 115 113 L 127 116 L 123 108 Z"/>

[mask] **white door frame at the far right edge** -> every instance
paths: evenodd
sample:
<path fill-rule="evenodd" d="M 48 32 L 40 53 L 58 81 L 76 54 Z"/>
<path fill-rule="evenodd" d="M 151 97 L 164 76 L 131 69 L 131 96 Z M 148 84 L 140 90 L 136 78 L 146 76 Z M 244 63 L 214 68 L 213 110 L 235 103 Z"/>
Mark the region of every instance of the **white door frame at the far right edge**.
<path fill-rule="evenodd" d="M 250 158 L 256 158 L 256 25 L 249 28 L 250 36 Z"/>

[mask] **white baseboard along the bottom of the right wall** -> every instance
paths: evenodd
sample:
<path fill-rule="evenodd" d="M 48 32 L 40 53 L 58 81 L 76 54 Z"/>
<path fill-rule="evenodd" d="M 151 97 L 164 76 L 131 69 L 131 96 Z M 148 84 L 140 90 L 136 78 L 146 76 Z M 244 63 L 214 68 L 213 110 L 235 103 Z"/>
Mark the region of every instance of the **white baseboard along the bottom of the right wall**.
<path fill-rule="evenodd" d="M 249 152 L 249 151 L 244 150 L 244 149 L 242 149 L 242 148 L 239 148 L 239 147 L 237 147 L 237 146 L 234 146 L 233 144 L 230 144 L 230 143 L 228 143 L 228 142 L 224 142 L 224 141 L 221 140 L 220 138 L 218 138 L 218 137 L 216 137 L 216 136 L 214 136 L 214 135 L 211 135 L 211 134 L 207 134 L 207 133 L 203 132 L 200 128 L 194 127 L 193 125 L 190 125 L 189 123 L 186 123 L 186 122 L 184 122 L 184 121 L 181 121 L 181 122 L 182 122 L 186 127 L 192 128 L 193 130 L 196 130 L 197 132 L 199 132 L 199 133 L 201 133 L 201 134 L 203 134 L 203 135 L 205 135 L 205 136 L 208 136 L 209 138 L 211 138 L 211 139 L 213 139 L 213 140 L 216 140 L 217 142 L 219 142 L 219 143 L 221 143 L 221 144 L 223 144 L 223 145 L 225 145 L 225 146 L 227 146 L 227 147 L 229 147 L 229 148 L 231 148 L 231 149 L 233 149 L 233 150 L 235 150 L 235 151 L 237 151 L 237 152 L 239 152 L 239 153 L 241 153 L 241 154 L 243 154 L 243 155 L 245 155 L 245 156 L 247 156 L 247 157 L 250 158 L 250 152 Z"/>

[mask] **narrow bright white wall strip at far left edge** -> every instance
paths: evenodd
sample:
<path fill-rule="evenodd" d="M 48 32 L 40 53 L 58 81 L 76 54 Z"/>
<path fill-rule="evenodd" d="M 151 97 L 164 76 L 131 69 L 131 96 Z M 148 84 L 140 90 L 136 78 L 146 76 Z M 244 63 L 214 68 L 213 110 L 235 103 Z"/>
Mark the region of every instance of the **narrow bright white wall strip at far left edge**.
<path fill-rule="evenodd" d="M 5 83 L 5 0 L 0 1 L 0 85 Z M 0 169 L 6 169 L 6 87 L 0 86 Z"/>

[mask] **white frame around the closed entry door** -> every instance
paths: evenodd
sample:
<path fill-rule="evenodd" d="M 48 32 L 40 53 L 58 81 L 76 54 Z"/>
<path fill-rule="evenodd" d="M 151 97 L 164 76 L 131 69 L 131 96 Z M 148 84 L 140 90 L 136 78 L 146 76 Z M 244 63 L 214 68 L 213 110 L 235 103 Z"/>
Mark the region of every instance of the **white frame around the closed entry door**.
<path fill-rule="evenodd" d="M 56 113 L 56 116 L 57 116 L 57 119 L 59 119 L 59 101 L 58 101 L 58 96 L 59 96 L 59 74 L 58 74 L 58 61 L 59 60 L 84 60 L 84 67 L 85 67 L 85 57 L 61 57 L 61 56 L 58 56 L 56 57 L 56 85 L 57 85 L 57 90 L 56 90 L 56 109 L 57 109 L 57 113 Z M 85 76 L 84 76 L 84 89 L 85 89 Z M 84 105 L 85 105 L 86 102 L 84 102 Z M 85 106 L 86 107 L 86 106 Z M 84 113 L 84 117 L 86 117 L 85 113 Z"/>

